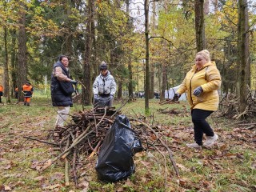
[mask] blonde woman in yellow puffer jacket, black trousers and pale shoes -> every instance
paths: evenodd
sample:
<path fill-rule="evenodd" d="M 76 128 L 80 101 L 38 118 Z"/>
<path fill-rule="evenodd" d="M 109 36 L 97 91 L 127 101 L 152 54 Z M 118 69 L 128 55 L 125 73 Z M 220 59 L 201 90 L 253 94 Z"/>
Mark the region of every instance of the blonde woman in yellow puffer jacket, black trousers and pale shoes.
<path fill-rule="evenodd" d="M 194 149 L 202 149 L 202 136 L 206 134 L 206 142 L 203 146 L 210 147 L 218 139 L 218 135 L 206 122 L 206 118 L 215 110 L 218 110 L 218 88 L 221 86 L 221 76 L 215 65 L 210 61 L 208 50 L 202 50 L 196 54 L 195 65 L 186 74 L 182 85 L 174 94 L 178 99 L 181 94 L 187 92 L 190 102 L 192 122 L 194 124 L 194 143 L 186 146 Z"/>

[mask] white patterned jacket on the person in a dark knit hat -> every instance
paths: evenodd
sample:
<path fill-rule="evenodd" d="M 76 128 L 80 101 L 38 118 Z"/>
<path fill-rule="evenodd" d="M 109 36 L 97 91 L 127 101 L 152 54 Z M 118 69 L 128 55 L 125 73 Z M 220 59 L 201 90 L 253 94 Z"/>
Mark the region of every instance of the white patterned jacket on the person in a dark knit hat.
<path fill-rule="evenodd" d="M 99 74 L 93 85 L 94 94 L 110 94 L 114 95 L 117 90 L 117 85 L 114 77 L 107 71 L 106 76 Z"/>

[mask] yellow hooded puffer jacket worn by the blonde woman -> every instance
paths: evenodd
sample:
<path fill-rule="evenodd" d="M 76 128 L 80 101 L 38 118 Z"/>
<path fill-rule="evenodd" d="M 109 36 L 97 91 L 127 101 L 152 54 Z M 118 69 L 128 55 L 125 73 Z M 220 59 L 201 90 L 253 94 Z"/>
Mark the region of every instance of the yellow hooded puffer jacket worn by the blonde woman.
<path fill-rule="evenodd" d="M 196 66 L 186 74 L 182 85 L 177 90 L 178 94 L 187 91 L 187 99 L 190 102 L 190 109 L 218 110 L 218 88 L 222 79 L 215 62 L 207 62 L 201 70 L 196 70 Z M 194 96 L 193 91 L 198 86 L 202 87 L 202 94 Z"/>

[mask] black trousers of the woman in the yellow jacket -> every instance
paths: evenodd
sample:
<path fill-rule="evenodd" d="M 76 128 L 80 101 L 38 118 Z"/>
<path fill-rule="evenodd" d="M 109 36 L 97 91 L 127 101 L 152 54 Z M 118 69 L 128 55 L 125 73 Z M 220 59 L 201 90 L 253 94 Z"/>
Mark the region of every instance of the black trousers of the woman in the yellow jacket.
<path fill-rule="evenodd" d="M 206 118 L 214 111 L 211 110 L 191 110 L 192 122 L 194 123 L 194 141 L 202 146 L 202 135 L 214 136 L 214 130 L 210 128 Z"/>

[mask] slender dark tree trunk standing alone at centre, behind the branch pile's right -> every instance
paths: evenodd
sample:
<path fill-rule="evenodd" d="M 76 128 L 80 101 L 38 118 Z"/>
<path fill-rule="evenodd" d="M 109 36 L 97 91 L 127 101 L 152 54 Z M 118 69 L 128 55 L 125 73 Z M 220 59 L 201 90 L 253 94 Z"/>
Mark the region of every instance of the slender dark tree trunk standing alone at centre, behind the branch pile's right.
<path fill-rule="evenodd" d="M 145 49 L 146 49 L 146 71 L 145 71 L 145 114 L 150 114 L 150 45 L 149 45 L 149 0 L 144 0 L 145 12 Z"/>

